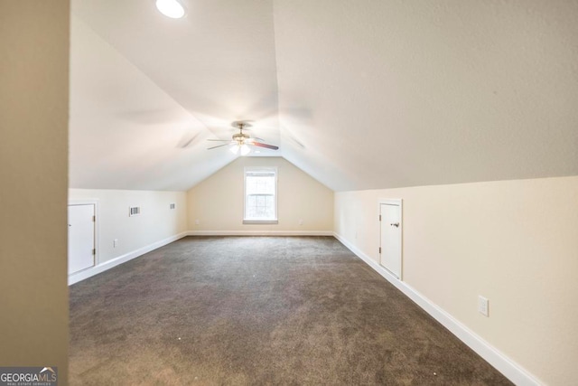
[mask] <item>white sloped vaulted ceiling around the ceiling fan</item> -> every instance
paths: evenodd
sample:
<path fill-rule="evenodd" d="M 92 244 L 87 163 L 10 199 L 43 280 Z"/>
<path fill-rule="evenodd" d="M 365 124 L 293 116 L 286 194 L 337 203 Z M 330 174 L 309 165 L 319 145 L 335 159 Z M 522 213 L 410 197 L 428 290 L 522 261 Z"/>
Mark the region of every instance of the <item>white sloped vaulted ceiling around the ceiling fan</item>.
<path fill-rule="evenodd" d="M 335 191 L 578 174 L 577 2 L 182 3 L 72 1 L 71 187 L 186 190 L 237 119 Z"/>

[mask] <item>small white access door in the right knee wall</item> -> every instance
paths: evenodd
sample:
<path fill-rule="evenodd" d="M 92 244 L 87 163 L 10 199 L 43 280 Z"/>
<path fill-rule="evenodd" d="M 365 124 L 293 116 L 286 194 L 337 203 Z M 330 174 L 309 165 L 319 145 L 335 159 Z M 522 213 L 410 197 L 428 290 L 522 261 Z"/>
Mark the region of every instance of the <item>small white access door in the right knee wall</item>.
<path fill-rule="evenodd" d="M 379 263 L 401 278 L 401 200 L 387 200 L 379 204 L 381 221 Z"/>

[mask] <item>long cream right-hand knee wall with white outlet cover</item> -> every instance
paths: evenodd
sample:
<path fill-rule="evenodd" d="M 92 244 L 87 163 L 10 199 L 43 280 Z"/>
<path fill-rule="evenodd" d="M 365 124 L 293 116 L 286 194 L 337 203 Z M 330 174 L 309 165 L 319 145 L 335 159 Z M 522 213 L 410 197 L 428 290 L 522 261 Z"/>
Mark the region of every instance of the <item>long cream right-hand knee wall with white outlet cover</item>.
<path fill-rule="evenodd" d="M 406 284 L 539 380 L 575 381 L 577 176 L 335 193 L 336 233 L 376 261 L 380 198 L 404 200 Z"/>

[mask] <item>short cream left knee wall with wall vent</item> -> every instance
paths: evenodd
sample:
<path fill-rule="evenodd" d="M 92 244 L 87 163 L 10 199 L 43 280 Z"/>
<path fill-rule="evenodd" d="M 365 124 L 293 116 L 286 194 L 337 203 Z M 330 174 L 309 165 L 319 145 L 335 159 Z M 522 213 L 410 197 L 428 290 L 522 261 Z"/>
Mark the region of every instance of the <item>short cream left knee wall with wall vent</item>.
<path fill-rule="evenodd" d="M 187 231 L 184 192 L 70 189 L 69 200 L 98 201 L 98 260 L 104 263 Z M 170 203 L 176 209 L 170 209 Z M 142 213 L 129 217 L 128 208 Z M 113 240 L 117 239 L 117 248 Z"/>

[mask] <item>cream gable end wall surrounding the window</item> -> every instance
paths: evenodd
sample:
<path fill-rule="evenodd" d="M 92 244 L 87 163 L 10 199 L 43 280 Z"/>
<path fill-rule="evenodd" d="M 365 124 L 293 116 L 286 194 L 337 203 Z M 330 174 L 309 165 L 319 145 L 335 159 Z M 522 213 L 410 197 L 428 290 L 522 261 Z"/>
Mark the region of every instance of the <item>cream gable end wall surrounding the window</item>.
<path fill-rule="evenodd" d="M 278 224 L 243 224 L 245 166 L 278 168 Z M 305 234 L 333 229 L 333 192 L 281 157 L 239 157 L 193 187 L 187 200 L 190 231 Z"/>

